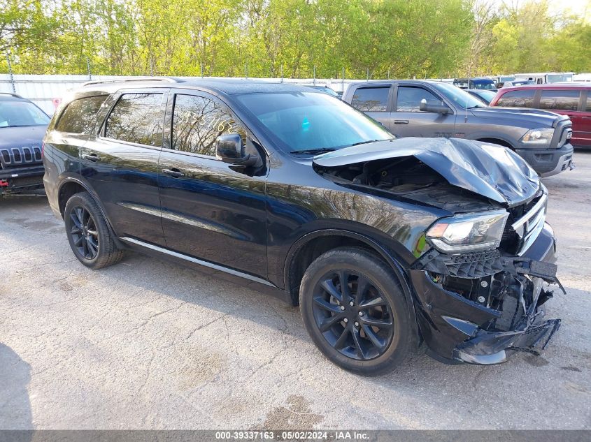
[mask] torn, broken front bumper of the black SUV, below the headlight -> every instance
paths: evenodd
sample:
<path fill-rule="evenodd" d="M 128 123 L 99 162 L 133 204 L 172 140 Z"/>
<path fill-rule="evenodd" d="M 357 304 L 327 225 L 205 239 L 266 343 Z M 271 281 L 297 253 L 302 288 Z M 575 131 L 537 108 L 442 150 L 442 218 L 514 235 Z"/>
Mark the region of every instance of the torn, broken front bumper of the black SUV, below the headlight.
<path fill-rule="evenodd" d="M 544 319 L 543 304 L 552 292 L 543 282 L 560 284 L 554 262 L 548 224 L 520 257 L 497 251 L 454 257 L 427 253 L 410 274 L 429 353 L 443 362 L 470 364 L 505 362 L 507 351 L 538 354 L 560 327 L 560 319 Z"/>

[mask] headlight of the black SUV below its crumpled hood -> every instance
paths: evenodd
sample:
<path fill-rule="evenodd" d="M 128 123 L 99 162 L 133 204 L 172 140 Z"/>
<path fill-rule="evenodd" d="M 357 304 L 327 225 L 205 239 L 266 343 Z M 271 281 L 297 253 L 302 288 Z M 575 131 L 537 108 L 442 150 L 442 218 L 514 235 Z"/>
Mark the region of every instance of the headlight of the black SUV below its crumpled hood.
<path fill-rule="evenodd" d="M 427 230 L 427 239 L 443 253 L 495 249 L 501 243 L 506 210 L 442 218 Z"/>

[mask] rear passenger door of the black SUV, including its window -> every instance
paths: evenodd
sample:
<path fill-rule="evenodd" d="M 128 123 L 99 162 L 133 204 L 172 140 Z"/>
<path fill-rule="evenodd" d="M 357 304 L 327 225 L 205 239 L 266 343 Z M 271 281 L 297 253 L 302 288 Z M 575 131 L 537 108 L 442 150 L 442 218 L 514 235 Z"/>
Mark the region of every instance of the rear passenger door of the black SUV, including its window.
<path fill-rule="evenodd" d="M 158 157 L 167 97 L 167 89 L 131 89 L 111 96 L 101 112 L 104 123 L 98 135 L 80 149 L 80 175 L 97 193 L 120 237 L 164 244 Z"/>

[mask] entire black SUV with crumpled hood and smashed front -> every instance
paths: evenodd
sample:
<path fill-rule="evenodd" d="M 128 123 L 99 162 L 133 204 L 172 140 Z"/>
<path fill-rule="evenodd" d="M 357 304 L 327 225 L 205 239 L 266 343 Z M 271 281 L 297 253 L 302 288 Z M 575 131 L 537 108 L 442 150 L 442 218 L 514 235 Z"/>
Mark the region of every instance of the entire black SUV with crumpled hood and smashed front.
<path fill-rule="evenodd" d="M 81 263 L 136 249 L 255 284 L 360 374 L 421 341 L 446 362 L 504 362 L 560 325 L 543 319 L 547 192 L 504 147 L 394 140 L 308 87 L 170 78 L 87 84 L 44 161 Z"/>

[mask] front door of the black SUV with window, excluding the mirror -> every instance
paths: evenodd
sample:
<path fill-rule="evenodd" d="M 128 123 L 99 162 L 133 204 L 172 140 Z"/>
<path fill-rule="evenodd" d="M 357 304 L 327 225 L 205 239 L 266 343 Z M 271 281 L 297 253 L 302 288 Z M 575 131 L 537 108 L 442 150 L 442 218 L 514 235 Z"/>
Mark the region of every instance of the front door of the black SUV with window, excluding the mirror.
<path fill-rule="evenodd" d="M 215 157 L 215 139 L 239 133 L 262 156 L 225 103 L 177 91 L 169 100 L 170 149 L 162 149 L 159 187 L 166 246 L 266 278 L 265 174 L 251 176 Z"/>

